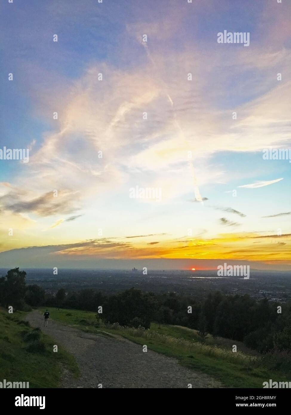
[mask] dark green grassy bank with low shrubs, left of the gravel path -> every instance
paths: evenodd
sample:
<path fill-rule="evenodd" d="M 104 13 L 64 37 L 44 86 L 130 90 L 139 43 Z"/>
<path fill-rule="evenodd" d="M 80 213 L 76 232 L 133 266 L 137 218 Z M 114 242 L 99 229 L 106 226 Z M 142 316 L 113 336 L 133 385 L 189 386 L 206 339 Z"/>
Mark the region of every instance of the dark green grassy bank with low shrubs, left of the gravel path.
<path fill-rule="evenodd" d="M 53 340 L 29 327 L 25 314 L 0 308 L 0 380 L 29 382 L 29 388 L 56 388 L 61 365 L 77 376 L 73 356 L 60 347 L 53 352 Z"/>

